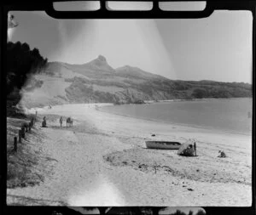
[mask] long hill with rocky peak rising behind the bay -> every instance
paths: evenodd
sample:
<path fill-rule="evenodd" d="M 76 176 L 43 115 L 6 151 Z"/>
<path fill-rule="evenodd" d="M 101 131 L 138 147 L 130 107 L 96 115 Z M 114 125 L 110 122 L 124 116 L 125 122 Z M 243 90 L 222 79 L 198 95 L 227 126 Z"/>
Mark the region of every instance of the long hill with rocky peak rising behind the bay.
<path fill-rule="evenodd" d="M 83 65 L 49 62 L 22 89 L 27 107 L 67 103 L 143 103 L 143 100 L 240 98 L 252 96 L 243 82 L 170 80 L 125 65 L 113 69 L 102 55 Z"/>

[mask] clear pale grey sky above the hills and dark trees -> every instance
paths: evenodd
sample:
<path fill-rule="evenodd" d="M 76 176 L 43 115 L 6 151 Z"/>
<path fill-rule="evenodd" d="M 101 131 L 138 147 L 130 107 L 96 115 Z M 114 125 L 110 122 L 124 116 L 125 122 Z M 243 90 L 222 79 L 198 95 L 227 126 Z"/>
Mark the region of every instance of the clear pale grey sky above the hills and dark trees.
<path fill-rule="evenodd" d="M 84 64 L 100 54 L 113 68 L 137 66 L 173 80 L 252 83 L 253 16 L 214 11 L 203 19 L 55 20 L 14 11 L 9 41 L 27 42 L 49 61 Z"/>

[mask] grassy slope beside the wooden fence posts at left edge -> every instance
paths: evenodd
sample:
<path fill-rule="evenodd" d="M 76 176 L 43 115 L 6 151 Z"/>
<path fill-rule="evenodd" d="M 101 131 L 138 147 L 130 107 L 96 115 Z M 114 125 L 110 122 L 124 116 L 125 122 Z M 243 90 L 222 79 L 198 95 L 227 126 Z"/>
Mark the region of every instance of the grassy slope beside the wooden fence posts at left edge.
<path fill-rule="evenodd" d="M 32 131 L 26 133 L 26 139 L 18 143 L 16 152 L 13 150 L 14 138 L 18 137 L 21 124 L 29 121 L 30 117 L 27 116 L 7 117 L 7 188 L 26 187 L 44 180 L 44 168 L 38 167 L 41 149 L 37 143 L 45 137 L 37 127 L 32 127 Z"/>

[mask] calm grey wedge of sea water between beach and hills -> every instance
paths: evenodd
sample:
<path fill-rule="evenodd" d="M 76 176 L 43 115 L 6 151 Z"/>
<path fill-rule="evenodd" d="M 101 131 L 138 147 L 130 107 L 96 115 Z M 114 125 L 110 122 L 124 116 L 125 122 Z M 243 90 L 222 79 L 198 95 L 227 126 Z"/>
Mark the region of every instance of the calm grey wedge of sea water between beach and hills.
<path fill-rule="evenodd" d="M 205 127 L 231 133 L 252 133 L 253 99 L 212 99 L 159 102 L 147 105 L 114 105 L 102 111 L 122 116 Z"/>

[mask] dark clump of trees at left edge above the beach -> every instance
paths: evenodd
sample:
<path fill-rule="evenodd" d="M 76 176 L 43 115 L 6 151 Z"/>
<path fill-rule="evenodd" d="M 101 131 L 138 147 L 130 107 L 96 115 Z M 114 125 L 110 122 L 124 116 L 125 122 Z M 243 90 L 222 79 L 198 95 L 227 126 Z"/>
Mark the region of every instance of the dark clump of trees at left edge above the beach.
<path fill-rule="evenodd" d="M 31 49 L 29 45 L 21 42 L 8 42 L 6 52 L 5 72 L 6 72 L 6 93 L 7 93 L 7 115 L 15 113 L 15 105 L 20 102 L 20 90 L 25 87 L 26 80 L 34 82 L 31 88 L 26 90 L 32 91 L 35 87 L 41 87 L 43 82 L 38 82 L 30 78 L 32 74 L 38 71 L 44 71 L 47 59 L 44 59 L 38 48 Z"/>

